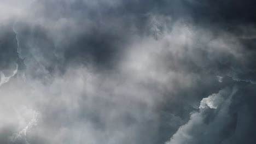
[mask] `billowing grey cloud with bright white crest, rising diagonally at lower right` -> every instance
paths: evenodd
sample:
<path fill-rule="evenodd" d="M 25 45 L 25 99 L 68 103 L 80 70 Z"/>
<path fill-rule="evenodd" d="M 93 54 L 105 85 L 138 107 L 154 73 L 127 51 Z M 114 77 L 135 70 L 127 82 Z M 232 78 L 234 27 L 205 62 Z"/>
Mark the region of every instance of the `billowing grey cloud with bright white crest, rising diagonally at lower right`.
<path fill-rule="evenodd" d="M 232 132 L 230 131 L 232 129 L 228 128 L 229 125 L 231 124 L 232 127 L 236 125 L 232 122 L 236 120 L 236 117 L 233 117 L 228 110 L 236 91 L 236 88 L 223 89 L 218 94 L 203 98 L 199 107 L 200 111 L 192 113 L 188 123 L 181 126 L 166 143 L 221 143 L 226 138 L 225 135 Z M 212 109 L 217 109 L 217 111 Z"/>

